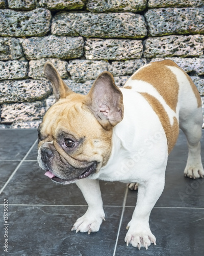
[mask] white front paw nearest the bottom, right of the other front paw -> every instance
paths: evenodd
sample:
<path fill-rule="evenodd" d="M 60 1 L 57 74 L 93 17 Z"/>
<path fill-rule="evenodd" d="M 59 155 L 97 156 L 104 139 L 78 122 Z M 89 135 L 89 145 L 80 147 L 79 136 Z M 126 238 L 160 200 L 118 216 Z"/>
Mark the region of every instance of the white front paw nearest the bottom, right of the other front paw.
<path fill-rule="evenodd" d="M 145 247 L 147 250 L 151 243 L 156 245 L 156 238 L 148 227 L 127 226 L 127 228 L 129 228 L 129 230 L 124 239 L 127 246 L 132 244 L 132 246 L 138 247 L 139 250 L 141 247 Z"/>

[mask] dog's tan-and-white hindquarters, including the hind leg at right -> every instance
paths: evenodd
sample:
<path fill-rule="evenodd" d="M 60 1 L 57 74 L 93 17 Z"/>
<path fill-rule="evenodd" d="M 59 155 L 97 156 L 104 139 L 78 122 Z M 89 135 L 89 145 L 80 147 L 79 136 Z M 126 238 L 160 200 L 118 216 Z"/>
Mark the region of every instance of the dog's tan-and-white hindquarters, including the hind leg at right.
<path fill-rule="evenodd" d="M 156 112 L 167 137 L 168 153 L 179 135 L 179 127 L 183 130 L 189 146 L 185 175 L 203 177 L 199 142 L 201 98 L 188 74 L 172 60 L 152 62 L 136 71 L 124 88 L 139 92 Z"/>

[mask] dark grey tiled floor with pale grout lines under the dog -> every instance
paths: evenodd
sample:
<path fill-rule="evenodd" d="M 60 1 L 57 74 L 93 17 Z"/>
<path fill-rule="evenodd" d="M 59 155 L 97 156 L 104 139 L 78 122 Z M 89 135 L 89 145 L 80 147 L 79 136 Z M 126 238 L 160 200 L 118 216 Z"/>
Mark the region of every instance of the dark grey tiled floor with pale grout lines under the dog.
<path fill-rule="evenodd" d="M 204 179 L 183 176 L 188 155 L 183 134 L 169 157 L 165 189 L 150 216 L 157 245 L 140 251 L 124 243 L 137 192 L 119 182 L 100 182 L 106 222 L 90 235 L 71 231 L 86 202 L 75 184 L 56 185 L 43 175 L 36 138 L 36 130 L 0 131 L 0 255 L 204 255 Z M 4 199 L 9 203 L 8 253 L 3 247 Z"/>

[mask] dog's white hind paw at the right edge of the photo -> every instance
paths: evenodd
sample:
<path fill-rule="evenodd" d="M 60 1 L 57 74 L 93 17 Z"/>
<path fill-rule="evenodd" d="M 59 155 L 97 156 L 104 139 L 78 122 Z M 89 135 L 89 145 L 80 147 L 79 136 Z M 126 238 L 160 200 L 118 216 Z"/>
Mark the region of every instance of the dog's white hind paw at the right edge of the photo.
<path fill-rule="evenodd" d="M 204 177 L 204 170 L 201 163 L 190 164 L 187 163 L 186 168 L 184 170 L 185 177 L 198 179 Z"/>

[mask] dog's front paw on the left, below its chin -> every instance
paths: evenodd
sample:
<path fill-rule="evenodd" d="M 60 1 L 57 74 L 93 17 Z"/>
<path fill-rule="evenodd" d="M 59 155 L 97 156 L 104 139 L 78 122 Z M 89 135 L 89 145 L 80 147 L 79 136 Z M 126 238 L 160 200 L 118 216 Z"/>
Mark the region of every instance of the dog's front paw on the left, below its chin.
<path fill-rule="evenodd" d="M 98 213 L 91 213 L 86 212 L 81 218 L 79 218 L 73 225 L 71 231 L 76 230 L 76 232 L 97 232 L 100 228 L 102 221 L 105 220 L 104 212 Z"/>

